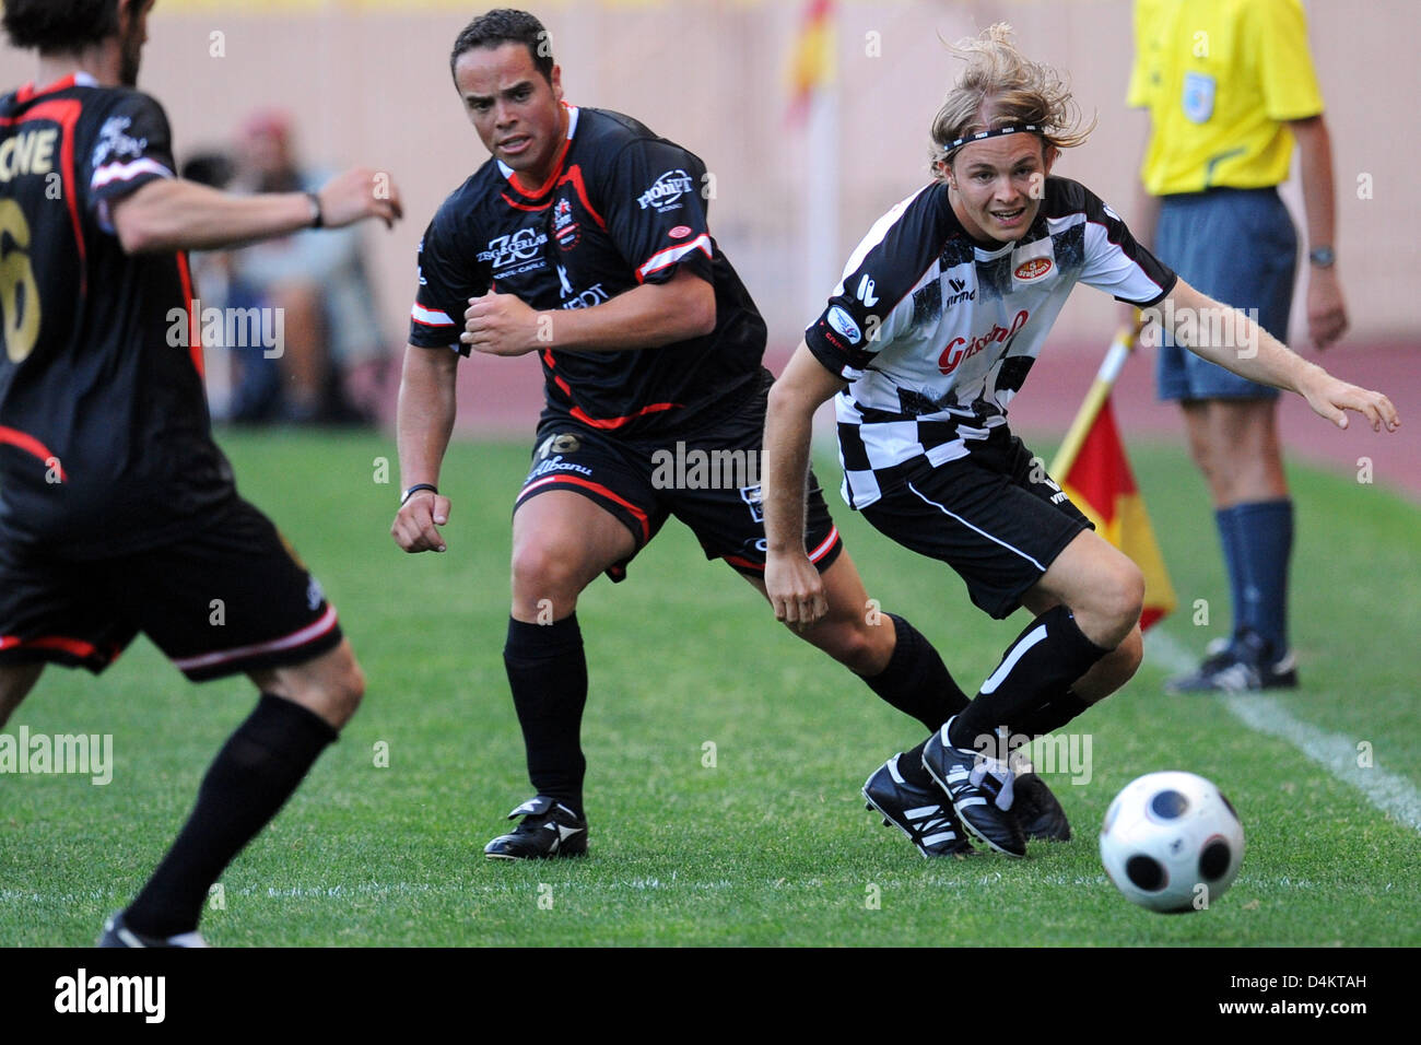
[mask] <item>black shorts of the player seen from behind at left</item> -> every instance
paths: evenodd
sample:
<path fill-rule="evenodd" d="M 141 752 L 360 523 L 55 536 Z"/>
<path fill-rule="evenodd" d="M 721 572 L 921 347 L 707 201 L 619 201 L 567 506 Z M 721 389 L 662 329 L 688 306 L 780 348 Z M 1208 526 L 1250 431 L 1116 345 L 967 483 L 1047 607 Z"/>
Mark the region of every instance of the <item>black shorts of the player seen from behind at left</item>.
<path fill-rule="evenodd" d="M 139 631 L 188 678 L 301 664 L 335 648 L 335 607 L 242 499 L 172 545 L 91 562 L 0 542 L 0 665 L 104 671 Z"/>

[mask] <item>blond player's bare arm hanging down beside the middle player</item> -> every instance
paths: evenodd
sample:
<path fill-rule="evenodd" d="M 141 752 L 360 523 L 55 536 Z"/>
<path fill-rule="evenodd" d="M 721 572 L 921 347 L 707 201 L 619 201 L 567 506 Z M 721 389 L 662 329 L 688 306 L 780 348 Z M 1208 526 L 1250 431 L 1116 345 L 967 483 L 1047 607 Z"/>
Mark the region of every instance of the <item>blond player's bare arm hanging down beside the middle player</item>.
<path fill-rule="evenodd" d="M 764 415 L 764 587 L 774 618 L 813 624 L 828 613 L 824 583 L 804 550 L 804 502 L 814 411 L 844 387 L 803 341 L 770 388 Z"/>

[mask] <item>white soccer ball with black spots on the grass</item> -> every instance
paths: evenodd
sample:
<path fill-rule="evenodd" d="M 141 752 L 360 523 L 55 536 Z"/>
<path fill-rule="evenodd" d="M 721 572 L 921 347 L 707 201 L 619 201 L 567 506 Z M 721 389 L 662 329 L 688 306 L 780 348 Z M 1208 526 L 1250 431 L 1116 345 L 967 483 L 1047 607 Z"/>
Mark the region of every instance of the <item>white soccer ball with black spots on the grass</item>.
<path fill-rule="evenodd" d="M 1243 825 L 1202 776 L 1147 773 L 1106 810 L 1100 859 L 1127 900 L 1169 914 L 1204 910 L 1243 863 Z"/>

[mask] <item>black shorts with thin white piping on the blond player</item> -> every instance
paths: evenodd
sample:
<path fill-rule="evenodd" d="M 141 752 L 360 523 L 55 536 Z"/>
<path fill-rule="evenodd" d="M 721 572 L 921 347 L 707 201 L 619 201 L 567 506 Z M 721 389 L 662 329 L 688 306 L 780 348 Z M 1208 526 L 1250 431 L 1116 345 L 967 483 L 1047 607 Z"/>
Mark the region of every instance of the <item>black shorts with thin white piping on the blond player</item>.
<path fill-rule="evenodd" d="M 966 582 L 972 601 L 996 620 L 1086 529 L 1096 529 L 1006 427 L 972 452 L 925 471 L 865 506 L 874 529 Z"/>

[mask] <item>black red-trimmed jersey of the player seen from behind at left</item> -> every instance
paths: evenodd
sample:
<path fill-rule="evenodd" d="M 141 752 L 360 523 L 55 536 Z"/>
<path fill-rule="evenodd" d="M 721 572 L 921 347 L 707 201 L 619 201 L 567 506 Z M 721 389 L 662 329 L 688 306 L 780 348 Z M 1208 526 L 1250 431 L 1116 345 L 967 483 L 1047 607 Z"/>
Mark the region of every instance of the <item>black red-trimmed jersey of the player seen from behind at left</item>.
<path fill-rule="evenodd" d="M 0 539 L 92 559 L 233 496 L 182 253 L 124 253 L 109 206 L 173 176 L 145 94 L 77 74 L 0 98 Z"/>

